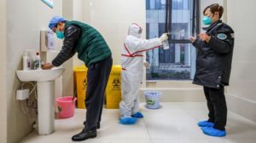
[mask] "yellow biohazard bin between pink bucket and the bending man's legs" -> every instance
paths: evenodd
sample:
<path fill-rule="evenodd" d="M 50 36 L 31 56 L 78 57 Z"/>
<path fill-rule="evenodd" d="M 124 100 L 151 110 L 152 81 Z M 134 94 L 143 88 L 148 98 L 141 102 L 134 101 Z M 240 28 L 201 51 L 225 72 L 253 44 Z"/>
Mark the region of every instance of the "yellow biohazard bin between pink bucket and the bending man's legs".
<path fill-rule="evenodd" d="M 77 89 L 77 101 L 78 108 L 85 108 L 84 100 L 85 100 L 85 92 L 87 88 L 87 68 L 85 66 L 77 66 L 73 68 L 74 79 Z"/>

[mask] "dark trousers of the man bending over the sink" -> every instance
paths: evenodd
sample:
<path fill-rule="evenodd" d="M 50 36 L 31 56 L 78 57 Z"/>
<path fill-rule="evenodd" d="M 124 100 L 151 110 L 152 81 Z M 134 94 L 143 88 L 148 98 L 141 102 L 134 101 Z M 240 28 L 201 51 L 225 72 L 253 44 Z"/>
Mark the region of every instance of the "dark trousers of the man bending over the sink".
<path fill-rule="evenodd" d="M 101 122 L 104 94 L 112 63 L 113 60 L 110 56 L 88 67 L 85 98 L 85 106 L 87 109 L 85 129 L 89 131 L 96 130 L 96 123 Z"/>

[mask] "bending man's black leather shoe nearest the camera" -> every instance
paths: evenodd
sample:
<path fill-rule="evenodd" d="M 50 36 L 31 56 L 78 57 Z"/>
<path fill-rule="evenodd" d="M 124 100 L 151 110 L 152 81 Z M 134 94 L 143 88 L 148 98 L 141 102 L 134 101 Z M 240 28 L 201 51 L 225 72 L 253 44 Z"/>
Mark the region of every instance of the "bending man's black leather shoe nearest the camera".
<path fill-rule="evenodd" d="M 96 136 L 97 136 L 96 130 L 87 131 L 86 129 L 83 129 L 81 133 L 73 135 L 72 140 L 81 141 L 81 140 L 87 140 L 89 138 L 95 138 Z"/>

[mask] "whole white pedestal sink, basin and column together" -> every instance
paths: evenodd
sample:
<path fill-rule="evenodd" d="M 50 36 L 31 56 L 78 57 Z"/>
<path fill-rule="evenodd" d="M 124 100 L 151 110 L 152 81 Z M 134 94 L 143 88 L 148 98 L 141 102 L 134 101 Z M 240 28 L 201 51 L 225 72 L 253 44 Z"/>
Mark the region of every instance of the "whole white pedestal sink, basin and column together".
<path fill-rule="evenodd" d="M 21 82 L 37 82 L 38 134 L 51 134 L 55 130 L 55 79 L 65 68 L 50 70 L 16 71 Z"/>

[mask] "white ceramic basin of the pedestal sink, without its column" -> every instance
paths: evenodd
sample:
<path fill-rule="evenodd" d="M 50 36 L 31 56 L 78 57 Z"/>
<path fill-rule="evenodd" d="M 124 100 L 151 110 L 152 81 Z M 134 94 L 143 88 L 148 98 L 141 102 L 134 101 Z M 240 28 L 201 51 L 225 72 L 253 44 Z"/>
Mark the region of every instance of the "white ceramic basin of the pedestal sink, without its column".
<path fill-rule="evenodd" d="M 29 71 L 16 71 L 17 76 L 21 82 L 47 82 L 61 77 L 65 68 L 55 67 L 50 70 L 29 70 Z"/>

